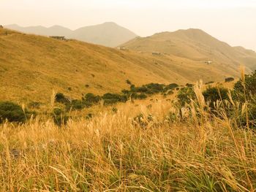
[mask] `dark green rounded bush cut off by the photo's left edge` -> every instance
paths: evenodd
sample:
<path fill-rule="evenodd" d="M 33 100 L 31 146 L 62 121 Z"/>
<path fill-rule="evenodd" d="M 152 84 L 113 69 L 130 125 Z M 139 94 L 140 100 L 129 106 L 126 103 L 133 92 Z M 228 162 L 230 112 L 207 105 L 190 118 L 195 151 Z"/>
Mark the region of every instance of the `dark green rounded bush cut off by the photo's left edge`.
<path fill-rule="evenodd" d="M 24 123 L 26 121 L 26 115 L 24 114 L 20 105 L 12 103 L 10 101 L 1 101 L 0 123 L 2 123 L 4 120 L 8 120 L 10 122 Z"/>

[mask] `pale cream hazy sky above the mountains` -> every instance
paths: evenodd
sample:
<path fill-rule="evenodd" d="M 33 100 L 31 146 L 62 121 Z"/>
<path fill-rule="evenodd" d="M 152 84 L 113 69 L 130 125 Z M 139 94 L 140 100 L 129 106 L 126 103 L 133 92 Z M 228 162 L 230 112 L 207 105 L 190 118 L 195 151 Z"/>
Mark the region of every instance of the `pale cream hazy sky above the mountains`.
<path fill-rule="evenodd" d="M 256 0 L 0 0 L 0 24 L 71 29 L 113 21 L 144 37 L 201 28 L 256 50 Z"/>

